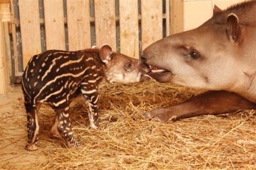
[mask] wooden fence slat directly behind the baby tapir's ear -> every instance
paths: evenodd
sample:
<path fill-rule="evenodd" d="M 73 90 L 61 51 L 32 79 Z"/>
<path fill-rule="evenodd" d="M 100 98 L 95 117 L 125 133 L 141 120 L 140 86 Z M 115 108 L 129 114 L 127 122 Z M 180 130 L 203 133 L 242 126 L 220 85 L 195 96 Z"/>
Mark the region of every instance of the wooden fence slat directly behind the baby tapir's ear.
<path fill-rule="evenodd" d="M 94 0 L 97 46 L 103 43 L 116 50 L 115 0 Z"/>

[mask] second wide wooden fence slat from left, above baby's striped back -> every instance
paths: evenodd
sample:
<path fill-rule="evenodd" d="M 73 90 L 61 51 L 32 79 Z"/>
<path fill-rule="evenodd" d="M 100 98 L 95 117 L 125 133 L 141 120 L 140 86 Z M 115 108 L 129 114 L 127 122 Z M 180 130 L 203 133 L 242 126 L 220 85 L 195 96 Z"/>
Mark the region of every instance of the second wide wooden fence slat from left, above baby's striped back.
<path fill-rule="evenodd" d="M 46 49 L 65 50 L 63 0 L 44 0 Z"/>

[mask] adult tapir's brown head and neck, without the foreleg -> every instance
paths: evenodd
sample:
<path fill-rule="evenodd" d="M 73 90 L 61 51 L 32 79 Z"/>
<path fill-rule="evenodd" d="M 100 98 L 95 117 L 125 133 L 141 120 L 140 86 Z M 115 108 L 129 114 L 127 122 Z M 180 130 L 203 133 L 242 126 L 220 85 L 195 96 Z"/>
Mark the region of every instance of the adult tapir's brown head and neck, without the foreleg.
<path fill-rule="evenodd" d="M 216 8 L 202 26 L 153 43 L 141 58 L 162 69 L 150 74 L 159 82 L 233 91 L 256 103 L 256 1 Z"/>

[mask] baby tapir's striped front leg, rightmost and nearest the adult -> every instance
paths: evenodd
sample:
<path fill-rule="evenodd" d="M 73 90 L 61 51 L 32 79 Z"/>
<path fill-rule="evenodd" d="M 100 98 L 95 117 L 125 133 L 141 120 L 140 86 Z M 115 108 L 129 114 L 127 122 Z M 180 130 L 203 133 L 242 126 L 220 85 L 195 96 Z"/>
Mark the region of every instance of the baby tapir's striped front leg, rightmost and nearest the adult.
<path fill-rule="evenodd" d="M 85 83 L 86 86 L 87 83 Z M 89 109 L 89 120 L 90 120 L 90 127 L 96 128 L 97 130 L 100 130 L 99 127 L 99 114 L 98 114 L 98 100 L 99 100 L 99 91 L 97 86 L 93 89 L 88 89 L 86 86 L 83 87 L 83 83 L 81 84 L 81 93 L 83 94 L 86 105 Z"/>

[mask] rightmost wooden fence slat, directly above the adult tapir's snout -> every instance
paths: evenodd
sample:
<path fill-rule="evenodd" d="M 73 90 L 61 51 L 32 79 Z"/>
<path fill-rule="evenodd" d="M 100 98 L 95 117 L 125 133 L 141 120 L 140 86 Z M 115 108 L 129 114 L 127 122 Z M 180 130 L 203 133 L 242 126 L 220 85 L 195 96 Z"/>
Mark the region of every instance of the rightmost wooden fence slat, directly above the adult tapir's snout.
<path fill-rule="evenodd" d="M 142 50 L 163 38 L 162 0 L 141 0 Z"/>

